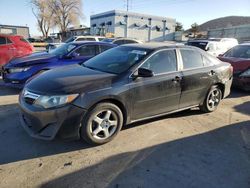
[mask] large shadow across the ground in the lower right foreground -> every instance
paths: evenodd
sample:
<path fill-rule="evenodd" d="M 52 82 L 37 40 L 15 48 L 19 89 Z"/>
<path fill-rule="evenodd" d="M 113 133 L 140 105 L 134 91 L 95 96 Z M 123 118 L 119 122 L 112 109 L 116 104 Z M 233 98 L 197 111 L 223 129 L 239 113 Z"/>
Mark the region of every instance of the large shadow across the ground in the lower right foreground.
<path fill-rule="evenodd" d="M 249 144 L 250 121 L 245 121 L 114 155 L 41 187 L 249 188 Z"/>

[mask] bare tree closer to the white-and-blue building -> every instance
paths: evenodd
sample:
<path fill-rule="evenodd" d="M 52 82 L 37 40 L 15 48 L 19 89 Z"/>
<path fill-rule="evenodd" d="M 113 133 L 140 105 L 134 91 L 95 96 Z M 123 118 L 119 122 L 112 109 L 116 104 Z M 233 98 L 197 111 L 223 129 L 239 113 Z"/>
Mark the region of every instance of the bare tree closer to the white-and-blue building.
<path fill-rule="evenodd" d="M 82 17 L 82 0 L 51 0 L 50 8 L 55 13 L 55 23 L 60 28 L 63 37 L 70 25 L 79 23 Z"/>

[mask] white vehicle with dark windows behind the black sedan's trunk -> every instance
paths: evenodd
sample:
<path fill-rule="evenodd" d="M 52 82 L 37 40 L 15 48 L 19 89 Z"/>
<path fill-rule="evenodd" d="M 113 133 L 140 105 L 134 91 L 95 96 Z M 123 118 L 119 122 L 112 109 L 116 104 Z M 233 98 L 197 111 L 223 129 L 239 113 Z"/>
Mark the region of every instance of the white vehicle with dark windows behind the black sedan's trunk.
<path fill-rule="evenodd" d="M 217 57 L 219 54 L 223 54 L 227 50 L 238 45 L 238 41 L 233 38 L 195 39 L 189 40 L 187 45 L 196 46 Z"/>

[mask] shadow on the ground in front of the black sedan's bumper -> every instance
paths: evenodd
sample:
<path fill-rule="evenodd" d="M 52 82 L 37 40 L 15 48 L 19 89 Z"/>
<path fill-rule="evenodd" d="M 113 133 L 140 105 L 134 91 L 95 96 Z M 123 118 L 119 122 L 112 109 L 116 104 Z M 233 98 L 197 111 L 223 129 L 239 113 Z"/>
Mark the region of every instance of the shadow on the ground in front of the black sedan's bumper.
<path fill-rule="evenodd" d="M 0 106 L 0 165 L 88 147 L 83 141 L 33 139 L 20 125 L 17 104 Z"/>

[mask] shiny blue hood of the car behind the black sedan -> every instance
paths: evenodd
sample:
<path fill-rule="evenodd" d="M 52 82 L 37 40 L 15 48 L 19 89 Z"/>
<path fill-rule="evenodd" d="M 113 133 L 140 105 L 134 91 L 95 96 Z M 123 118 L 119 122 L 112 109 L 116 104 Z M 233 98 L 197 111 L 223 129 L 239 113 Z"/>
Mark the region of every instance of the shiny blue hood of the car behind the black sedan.
<path fill-rule="evenodd" d="M 33 53 L 30 55 L 12 59 L 8 65 L 14 67 L 30 66 L 34 64 L 49 62 L 54 58 L 57 58 L 57 56 L 49 54 L 47 52 Z"/>

